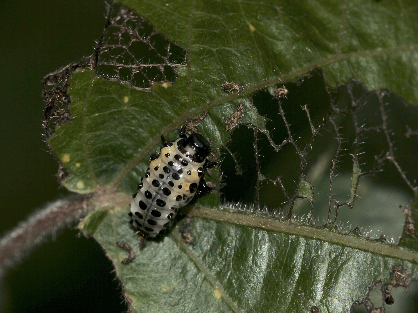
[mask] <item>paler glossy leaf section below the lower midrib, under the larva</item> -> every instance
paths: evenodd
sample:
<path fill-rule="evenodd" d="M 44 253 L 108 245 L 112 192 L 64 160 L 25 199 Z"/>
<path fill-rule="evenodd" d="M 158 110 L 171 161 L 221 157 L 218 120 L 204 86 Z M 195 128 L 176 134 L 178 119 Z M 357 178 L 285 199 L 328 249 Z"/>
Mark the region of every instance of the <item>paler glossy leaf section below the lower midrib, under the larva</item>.
<path fill-rule="evenodd" d="M 374 282 L 390 282 L 394 266 L 418 276 L 418 253 L 205 208 L 192 212 L 196 245 L 183 241 L 180 222 L 139 250 L 127 212 L 110 210 L 94 238 L 113 261 L 133 312 L 304 312 L 313 305 L 321 312 L 349 312 Z M 116 245 L 120 240 L 135 251 L 127 265 L 121 263 L 127 253 Z"/>

